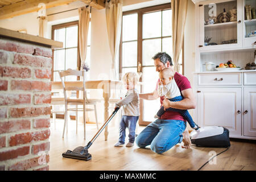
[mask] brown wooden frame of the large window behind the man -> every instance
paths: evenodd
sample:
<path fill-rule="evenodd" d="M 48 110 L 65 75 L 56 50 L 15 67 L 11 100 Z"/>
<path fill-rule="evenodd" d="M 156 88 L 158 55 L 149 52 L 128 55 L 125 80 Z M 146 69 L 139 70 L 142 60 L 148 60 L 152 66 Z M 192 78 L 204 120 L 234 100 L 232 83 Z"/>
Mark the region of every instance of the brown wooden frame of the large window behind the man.
<path fill-rule="evenodd" d="M 146 39 L 143 39 L 142 38 L 142 26 L 143 26 L 143 22 L 142 22 L 142 19 L 143 19 L 143 14 L 146 14 L 146 13 L 154 13 L 156 11 L 164 11 L 164 10 L 170 10 L 171 9 L 171 3 L 166 3 L 166 4 L 163 4 L 163 5 L 156 5 L 156 6 L 151 6 L 151 7 L 144 7 L 142 9 L 136 9 L 136 10 L 130 10 L 130 11 L 124 11 L 122 16 L 125 16 L 125 15 L 130 15 L 130 14 L 138 14 L 138 34 L 137 34 L 137 72 L 141 72 L 143 71 L 143 67 L 152 67 L 151 65 L 150 66 L 143 66 L 142 64 L 142 42 L 143 40 L 148 40 L 148 39 L 162 39 L 163 38 L 168 38 L 168 37 L 172 37 L 171 36 L 162 36 L 162 32 L 161 32 L 161 36 L 158 37 L 158 38 L 146 38 Z M 123 41 L 122 41 L 122 30 L 121 30 L 121 40 L 120 40 L 120 45 L 119 45 L 119 79 L 121 80 L 122 78 L 122 69 L 123 68 L 126 68 L 126 67 L 122 67 L 122 44 L 123 44 Z M 135 41 L 135 40 L 133 40 Z M 129 41 L 125 41 L 125 42 L 129 42 Z M 162 44 L 161 44 L 162 46 Z M 162 48 L 161 48 L 162 49 Z M 153 56 L 153 55 L 152 55 Z M 181 54 L 181 59 L 182 59 L 182 62 L 181 62 L 181 65 L 182 65 L 182 75 L 184 75 L 184 39 L 183 39 L 183 46 L 182 46 L 182 54 Z M 133 68 L 133 67 L 128 67 L 128 68 Z M 135 68 L 135 67 L 134 67 Z M 139 81 L 142 81 L 142 77 L 139 78 Z M 141 90 L 142 90 L 142 85 L 141 85 Z M 140 113 L 142 115 L 143 113 L 143 104 L 142 102 L 140 102 Z M 140 125 L 148 125 L 150 122 L 148 121 L 143 121 L 142 120 L 143 118 L 142 117 L 139 117 L 139 124 Z"/>

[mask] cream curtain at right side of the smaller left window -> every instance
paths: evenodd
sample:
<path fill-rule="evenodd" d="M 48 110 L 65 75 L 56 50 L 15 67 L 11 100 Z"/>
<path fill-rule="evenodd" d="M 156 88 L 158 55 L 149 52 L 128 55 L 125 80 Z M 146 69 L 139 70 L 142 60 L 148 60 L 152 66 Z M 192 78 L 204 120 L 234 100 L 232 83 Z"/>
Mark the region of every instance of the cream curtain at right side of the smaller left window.
<path fill-rule="evenodd" d="M 90 23 L 90 6 L 79 8 L 79 51 L 81 65 L 85 63 L 87 51 L 87 37 Z"/>

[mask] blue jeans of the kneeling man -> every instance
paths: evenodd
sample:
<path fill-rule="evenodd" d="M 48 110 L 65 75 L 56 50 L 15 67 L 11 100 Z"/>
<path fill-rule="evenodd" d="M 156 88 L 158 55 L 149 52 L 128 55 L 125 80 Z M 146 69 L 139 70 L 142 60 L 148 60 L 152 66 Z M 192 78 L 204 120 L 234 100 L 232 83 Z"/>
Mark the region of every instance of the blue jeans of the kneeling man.
<path fill-rule="evenodd" d="M 182 142 L 186 126 L 187 123 L 180 120 L 156 119 L 137 136 L 135 142 L 138 147 L 150 145 L 152 151 L 162 154 Z"/>

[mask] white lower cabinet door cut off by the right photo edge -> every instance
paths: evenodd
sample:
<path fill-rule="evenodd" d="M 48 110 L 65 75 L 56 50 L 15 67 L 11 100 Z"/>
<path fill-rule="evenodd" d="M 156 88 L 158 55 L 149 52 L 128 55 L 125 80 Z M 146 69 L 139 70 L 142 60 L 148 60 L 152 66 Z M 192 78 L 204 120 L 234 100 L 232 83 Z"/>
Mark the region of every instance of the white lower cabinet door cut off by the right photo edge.
<path fill-rule="evenodd" d="M 243 133 L 256 137 L 256 87 L 244 88 Z"/>

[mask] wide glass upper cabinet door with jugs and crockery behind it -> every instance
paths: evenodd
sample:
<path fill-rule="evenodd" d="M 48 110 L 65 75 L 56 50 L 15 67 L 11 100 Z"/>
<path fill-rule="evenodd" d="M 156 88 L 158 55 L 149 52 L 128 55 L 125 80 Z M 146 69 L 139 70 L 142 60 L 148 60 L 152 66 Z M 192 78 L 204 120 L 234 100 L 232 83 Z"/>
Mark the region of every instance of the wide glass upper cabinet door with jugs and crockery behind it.
<path fill-rule="evenodd" d="M 201 50 L 242 47 L 241 0 L 201 2 L 199 11 Z"/>

